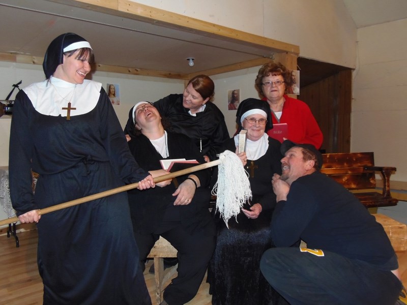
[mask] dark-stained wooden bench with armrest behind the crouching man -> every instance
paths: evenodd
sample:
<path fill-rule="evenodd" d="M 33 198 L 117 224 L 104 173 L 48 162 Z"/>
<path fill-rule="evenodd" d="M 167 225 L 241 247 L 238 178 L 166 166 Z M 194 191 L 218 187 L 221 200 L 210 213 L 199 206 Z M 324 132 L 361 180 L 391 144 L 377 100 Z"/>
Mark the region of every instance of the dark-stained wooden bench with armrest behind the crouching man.
<path fill-rule="evenodd" d="M 323 154 L 322 173 L 327 174 L 355 196 L 367 208 L 396 205 L 398 200 L 390 194 L 390 175 L 395 167 L 375 166 L 373 153 Z M 376 192 L 376 172 L 383 178 L 382 193 Z"/>

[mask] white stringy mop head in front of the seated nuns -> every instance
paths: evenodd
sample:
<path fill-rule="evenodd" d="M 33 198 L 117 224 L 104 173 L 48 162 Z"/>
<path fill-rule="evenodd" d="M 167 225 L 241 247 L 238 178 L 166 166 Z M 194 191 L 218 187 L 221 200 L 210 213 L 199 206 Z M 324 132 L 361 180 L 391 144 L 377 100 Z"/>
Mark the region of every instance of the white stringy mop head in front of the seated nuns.
<path fill-rule="evenodd" d="M 216 210 L 220 212 L 223 221 L 227 222 L 232 217 L 237 217 L 243 204 L 251 199 L 251 189 L 248 173 L 242 161 L 230 150 L 225 150 L 219 155 L 221 163 L 218 165 L 218 181 L 212 195 L 216 195 Z"/>

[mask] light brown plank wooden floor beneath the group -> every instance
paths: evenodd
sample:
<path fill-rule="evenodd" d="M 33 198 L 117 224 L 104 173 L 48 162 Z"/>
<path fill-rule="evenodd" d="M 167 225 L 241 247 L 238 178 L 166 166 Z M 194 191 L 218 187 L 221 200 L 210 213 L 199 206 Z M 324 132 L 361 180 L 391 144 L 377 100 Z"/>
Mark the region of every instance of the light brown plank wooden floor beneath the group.
<path fill-rule="evenodd" d="M 42 282 L 37 269 L 37 231 L 18 233 L 20 247 L 16 248 L 13 237 L 0 236 L 0 305 L 39 305 L 42 304 Z M 401 279 L 407 286 L 407 251 L 397 253 Z M 152 261 L 148 263 L 144 277 L 153 305 L 155 300 L 154 275 L 148 273 Z M 198 294 L 188 305 L 210 305 L 209 285 L 203 279 Z"/>

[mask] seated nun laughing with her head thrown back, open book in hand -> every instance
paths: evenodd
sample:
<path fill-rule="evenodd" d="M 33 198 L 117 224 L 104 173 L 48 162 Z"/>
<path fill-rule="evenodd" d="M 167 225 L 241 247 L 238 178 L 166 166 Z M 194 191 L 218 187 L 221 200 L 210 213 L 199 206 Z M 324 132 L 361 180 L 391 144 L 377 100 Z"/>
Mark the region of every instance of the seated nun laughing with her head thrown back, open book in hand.
<path fill-rule="evenodd" d="M 161 160 L 205 163 L 198 147 L 183 134 L 167 132 L 157 108 L 139 102 L 129 113 L 134 128 L 130 151 L 153 176 L 167 174 Z M 165 125 L 165 124 L 164 124 Z M 194 165 L 194 164 L 193 164 Z M 209 212 L 210 169 L 159 182 L 155 189 L 129 191 L 134 236 L 140 250 L 140 268 L 160 236 L 177 249 L 178 275 L 163 293 L 162 305 L 182 305 L 197 293 L 215 247 L 215 225 Z"/>

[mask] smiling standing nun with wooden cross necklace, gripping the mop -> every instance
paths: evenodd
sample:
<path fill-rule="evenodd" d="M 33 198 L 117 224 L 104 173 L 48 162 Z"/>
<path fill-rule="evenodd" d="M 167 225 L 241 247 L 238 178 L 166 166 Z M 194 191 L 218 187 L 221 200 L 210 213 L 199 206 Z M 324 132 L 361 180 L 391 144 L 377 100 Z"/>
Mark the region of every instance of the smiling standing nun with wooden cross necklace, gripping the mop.
<path fill-rule="evenodd" d="M 40 215 L 39 209 L 152 176 L 130 154 L 102 84 L 86 80 L 88 41 L 66 33 L 49 45 L 46 79 L 22 89 L 10 134 L 10 192 L 21 223 L 36 222 L 44 304 L 151 304 L 127 193 Z M 35 193 L 31 170 L 39 173 Z"/>

